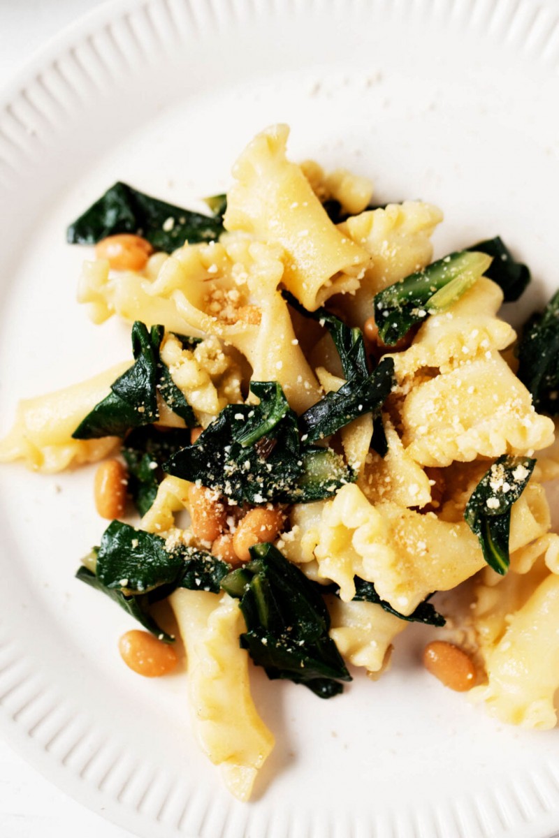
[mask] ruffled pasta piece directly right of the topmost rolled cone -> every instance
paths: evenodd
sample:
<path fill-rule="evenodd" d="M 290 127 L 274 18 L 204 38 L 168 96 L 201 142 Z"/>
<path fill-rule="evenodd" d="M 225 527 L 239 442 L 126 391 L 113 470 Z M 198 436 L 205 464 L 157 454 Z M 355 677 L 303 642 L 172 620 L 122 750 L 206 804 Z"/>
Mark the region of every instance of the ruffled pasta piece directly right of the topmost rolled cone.
<path fill-rule="evenodd" d="M 404 201 L 367 210 L 340 225 L 372 257 L 355 295 L 339 301 L 352 323 L 362 326 L 370 318 L 376 293 L 429 264 L 431 236 L 442 220 L 443 213 L 432 204 Z"/>

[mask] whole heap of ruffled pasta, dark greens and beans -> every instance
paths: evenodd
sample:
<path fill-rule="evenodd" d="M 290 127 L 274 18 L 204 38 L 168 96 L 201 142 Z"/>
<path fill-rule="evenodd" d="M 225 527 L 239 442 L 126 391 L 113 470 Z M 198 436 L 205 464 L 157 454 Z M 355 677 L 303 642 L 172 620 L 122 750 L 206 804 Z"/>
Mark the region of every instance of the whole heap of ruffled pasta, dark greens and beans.
<path fill-rule="evenodd" d="M 118 458 L 77 576 L 158 638 L 121 646 L 135 671 L 176 663 L 178 627 L 192 730 L 241 800 L 274 745 L 252 664 L 329 699 L 446 616 L 468 679 L 440 643 L 429 669 L 500 721 L 553 727 L 559 687 L 557 365 L 545 342 L 533 360 L 551 327 L 516 358 L 499 318 L 529 272 L 499 238 L 432 261 L 440 209 L 371 206 L 368 178 L 289 160 L 288 133 L 249 143 L 214 215 L 115 184 L 70 225 L 97 245 L 78 300 L 132 324 L 133 359 L 21 402 L 0 442 L 44 472 Z"/>

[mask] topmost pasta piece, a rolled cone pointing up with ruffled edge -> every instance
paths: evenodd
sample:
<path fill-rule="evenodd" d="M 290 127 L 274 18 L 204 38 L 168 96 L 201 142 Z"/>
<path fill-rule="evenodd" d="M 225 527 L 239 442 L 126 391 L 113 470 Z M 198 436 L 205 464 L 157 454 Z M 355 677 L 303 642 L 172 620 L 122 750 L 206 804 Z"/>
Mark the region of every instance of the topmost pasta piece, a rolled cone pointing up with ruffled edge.
<path fill-rule="evenodd" d="M 355 291 L 370 257 L 332 224 L 301 168 L 287 160 L 288 136 L 277 125 L 246 147 L 233 168 L 224 223 L 280 244 L 284 284 L 314 311 L 332 294 Z"/>

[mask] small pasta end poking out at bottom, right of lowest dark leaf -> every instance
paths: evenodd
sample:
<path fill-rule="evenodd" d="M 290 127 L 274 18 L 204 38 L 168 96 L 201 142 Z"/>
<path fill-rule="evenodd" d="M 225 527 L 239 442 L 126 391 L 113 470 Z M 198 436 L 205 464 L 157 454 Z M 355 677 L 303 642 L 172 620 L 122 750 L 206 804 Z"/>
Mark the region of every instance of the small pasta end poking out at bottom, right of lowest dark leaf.
<path fill-rule="evenodd" d="M 406 622 L 375 603 L 344 603 L 328 597 L 332 625 L 330 637 L 354 666 L 368 672 L 385 670 L 391 643 L 406 628 Z"/>

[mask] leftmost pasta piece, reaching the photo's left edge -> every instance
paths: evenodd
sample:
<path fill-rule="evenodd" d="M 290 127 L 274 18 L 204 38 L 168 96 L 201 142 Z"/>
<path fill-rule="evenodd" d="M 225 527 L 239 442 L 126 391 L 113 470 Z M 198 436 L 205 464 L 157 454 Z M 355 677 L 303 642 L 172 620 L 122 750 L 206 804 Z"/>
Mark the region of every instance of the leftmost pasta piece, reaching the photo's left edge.
<path fill-rule="evenodd" d="M 28 468 L 54 473 L 105 458 L 117 437 L 72 439 L 72 433 L 129 366 L 124 362 L 80 384 L 20 401 L 13 428 L 0 442 L 0 462 L 22 459 Z"/>

